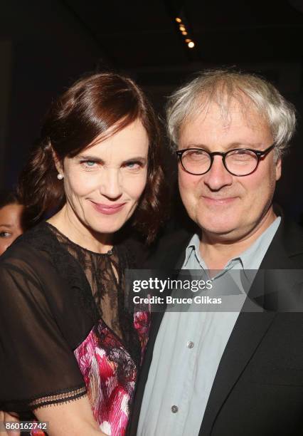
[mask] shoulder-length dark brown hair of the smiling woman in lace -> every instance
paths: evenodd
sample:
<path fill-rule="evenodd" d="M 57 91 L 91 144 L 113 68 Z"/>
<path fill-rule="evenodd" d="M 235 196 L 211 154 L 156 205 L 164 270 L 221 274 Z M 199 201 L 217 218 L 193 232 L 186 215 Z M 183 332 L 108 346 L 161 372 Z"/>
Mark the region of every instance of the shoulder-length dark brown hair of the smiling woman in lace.
<path fill-rule="evenodd" d="M 132 223 L 151 242 L 166 203 L 159 124 L 142 90 L 131 79 L 115 73 L 80 79 L 51 106 L 41 139 L 31 150 L 19 180 L 18 194 L 31 210 L 33 221 L 65 203 L 53 152 L 59 160 L 74 157 L 97 137 L 106 139 L 137 119 L 149 137 L 149 163 L 147 186 Z"/>

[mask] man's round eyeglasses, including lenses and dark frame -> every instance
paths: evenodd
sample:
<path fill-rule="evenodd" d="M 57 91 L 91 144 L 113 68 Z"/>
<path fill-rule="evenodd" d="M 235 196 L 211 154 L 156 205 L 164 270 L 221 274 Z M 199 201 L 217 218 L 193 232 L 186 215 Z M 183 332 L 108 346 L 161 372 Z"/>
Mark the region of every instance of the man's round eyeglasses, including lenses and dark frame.
<path fill-rule="evenodd" d="M 228 152 L 208 152 L 202 148 L 186 148 L 176 151 L 182 167 L 192 175 L 203 175 L 211 170 L 213 157 L 222 157 L 223 165 L 230 174 L 242 177 L 250 175 L 257 169 L 262 157 L 266 156 L 275 144 L 270 145 L 266 150 L 252 150 L 250 148 L 235 148 Z"/>

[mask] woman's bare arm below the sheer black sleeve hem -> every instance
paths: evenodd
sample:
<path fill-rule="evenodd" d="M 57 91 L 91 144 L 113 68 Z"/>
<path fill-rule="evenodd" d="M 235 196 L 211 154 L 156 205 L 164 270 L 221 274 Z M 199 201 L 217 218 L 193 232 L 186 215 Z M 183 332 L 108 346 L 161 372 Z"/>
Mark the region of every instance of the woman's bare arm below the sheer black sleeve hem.
<path fill-rule="evenodd" d="M 92 415 L 87 396 L 38 408 L 34 413 L 38 420 L 48 422 L 49 436 L 106 436 Z"/>

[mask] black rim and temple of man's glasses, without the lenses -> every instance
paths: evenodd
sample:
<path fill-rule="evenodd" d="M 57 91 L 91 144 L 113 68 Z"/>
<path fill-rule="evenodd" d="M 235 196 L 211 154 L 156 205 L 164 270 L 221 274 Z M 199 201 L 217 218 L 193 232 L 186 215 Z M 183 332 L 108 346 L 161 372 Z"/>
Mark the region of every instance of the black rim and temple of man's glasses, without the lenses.
<path fill-rule="evenodd" d="M 272 144 L 272 145 L 270 145 L 270 147 L 267 147 L 267 149 L 263 150 L 263 151 L 253 150 L 252 148 L 233 148 L 233 150 L 228 150 L 228 152 L 208 152 L 207 150 L 204 150 L 203 148 L 193 147 L 193 148 L 185 148 L 184 150 L 176 150 L 176 155 L 179 157 L 179 162 L 181 162 L 181 165 L 182 165 L 182 168 L 184 169 L 184 171 L 188 172 L 188 174 L 191 174 L 191 175 L 206 174 L 206 172 L 211 170 L 211 167 L 213 165 L 213 157 L 218 155 L 218 156 L 222 157 L 223 165 L 224 165 L 226 171 L 228 171 L 231 175 L 234 175 L 236 177 L 245 177 L 247 175 L 252 174 L 252 172 L 255 172 L 255 170 L 257 170 L 257 167 L 258 167 L 259 162 L 262 159 L 262 157 L 268 155 L 268 153 L 271 152 L 274 149 L 274 147 L 275 147 L 275 144 Z M 190 171 L 186 170 L 186 167 L 184 167 L 184 164 L 182 162 L 182 156 L 188 150 L 203 150 L 203 152 L 206 152 L 208 154 L 208 156 L 211 158 L 211 164 L 209 165 L 209 168 L 207 171 L 199 172 L 198 174 L 196 174 L 195 172 L 190 172 Z M 234 174 L 233 172 L 228 170 L 228 167 L 226 167 L 226 164 L 225 164 L 226 155 L 228 155 L 231 152 L 235 152 L 235 151 L 250 151 L 250 152 L 255 153 L 255 155 L 257 156 L 257 165 L 255 166 L 254 170 L 248 172 L 248 174 L 243 174 L 243 175 Z"/>

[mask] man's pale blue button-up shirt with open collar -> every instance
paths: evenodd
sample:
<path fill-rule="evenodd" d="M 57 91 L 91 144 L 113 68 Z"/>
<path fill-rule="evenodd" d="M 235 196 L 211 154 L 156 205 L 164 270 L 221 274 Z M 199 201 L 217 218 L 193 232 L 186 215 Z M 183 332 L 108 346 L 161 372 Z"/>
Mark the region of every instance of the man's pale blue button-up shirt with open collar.
<path fill-rule="evenodd" d="M 241 304 L 245 291 L 237 271 L 257 270 L 280 224 L 280 217 L 213 278 L 224 286 L 224 274 L 235 270 Z M 182 269 L 208 273 L 193 235 Z M 242 295 L 241 295 L 242 294 Z M 211 295 L 211 291 L 208 292 Z M 243 296 L 243 298 L 242 298 Z M 241 300 L 242 298 L 242 300 Z M 201 427 L 213 381 L 239 311 L 166 311 L 154 345 L 137 435 L 196 436 Z"/>

